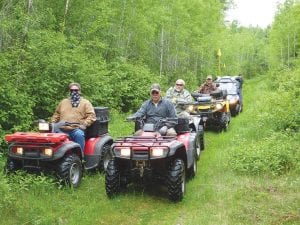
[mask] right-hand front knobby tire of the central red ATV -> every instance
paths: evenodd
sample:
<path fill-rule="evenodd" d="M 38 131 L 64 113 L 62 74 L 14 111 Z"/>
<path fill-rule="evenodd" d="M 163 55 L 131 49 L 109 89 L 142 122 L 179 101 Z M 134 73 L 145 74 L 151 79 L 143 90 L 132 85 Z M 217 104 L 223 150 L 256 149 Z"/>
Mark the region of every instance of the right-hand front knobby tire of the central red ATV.
<path fill-rule="evenodd" d="M 182 159 L 175 159 L 169 168 L 167 177 L 167 187 L 169 199 L 181 201 L 185 193 L 185 165 Z"/>

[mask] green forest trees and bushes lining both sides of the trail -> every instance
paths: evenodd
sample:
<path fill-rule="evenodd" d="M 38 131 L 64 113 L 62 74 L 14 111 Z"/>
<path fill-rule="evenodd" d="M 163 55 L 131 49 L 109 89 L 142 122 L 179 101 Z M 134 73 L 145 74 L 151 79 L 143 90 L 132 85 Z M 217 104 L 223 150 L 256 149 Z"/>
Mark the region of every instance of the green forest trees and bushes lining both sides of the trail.
<path fill-rule="evenodd" d="M 253 113 L 256 128 L 267 131 L 266 139 L 232 154 L 231 168 L 254 175 L 299 172 L 299 1 L 279 5 L 266 29 L 224 21 L 230 4 L 0 0 L 0 162 L 4 135 L 33 130 L 38 118 L 49 118 L 70 82 L 79 82 L 94 106 L 123 115 L 149 97 L 151 83 L 166 90 L 182 78 L 193 91 L 207 74 L 241 74 L 245 83 L 263 77 L 254 101 L 264 104 Z M 9 187 L 1 176 L 1 196 L 9 196 Z M 0 208 L 10 201 L 0 199 Z"/>

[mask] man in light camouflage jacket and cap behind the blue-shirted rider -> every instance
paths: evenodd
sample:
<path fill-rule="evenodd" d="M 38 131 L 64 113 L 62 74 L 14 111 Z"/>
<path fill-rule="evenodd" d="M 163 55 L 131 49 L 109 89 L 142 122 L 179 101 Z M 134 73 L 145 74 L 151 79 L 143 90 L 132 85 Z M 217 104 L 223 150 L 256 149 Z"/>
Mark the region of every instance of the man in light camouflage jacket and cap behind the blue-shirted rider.
<path fill-rule="evenodd" d="M 175 82 L 174 87 L 170 87 L 167 90 L 165 98 L 171 101 L 175 105 L 176 114 L 178 117 L 189 117 L 189 113 L 186 110 L 186 105 L 180 103 L 192 102 L 193 98 L 188 90 L 185 88 L 185 82 L 182 79 L 178 79 Z"/>

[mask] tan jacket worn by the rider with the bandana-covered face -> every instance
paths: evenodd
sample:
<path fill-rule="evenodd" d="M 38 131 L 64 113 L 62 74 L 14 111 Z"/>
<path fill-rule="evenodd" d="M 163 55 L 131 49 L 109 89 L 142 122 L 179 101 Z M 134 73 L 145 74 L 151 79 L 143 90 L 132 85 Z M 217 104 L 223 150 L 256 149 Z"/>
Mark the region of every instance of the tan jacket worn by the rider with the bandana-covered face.
<path fill-rule="evenodd" d="M 59 103 L 51 119 L 51 122 L 54 123 L 59 121 L 78 123 L 78 125 L 64 127 L 66 130 L 78 128 L 80 125 L 88 127 L 96 121 L 96 114 L 92 104 L 87 99 L 80 97 L 79 106 L 72 107 L 71 100 L 66 98 Z"/>

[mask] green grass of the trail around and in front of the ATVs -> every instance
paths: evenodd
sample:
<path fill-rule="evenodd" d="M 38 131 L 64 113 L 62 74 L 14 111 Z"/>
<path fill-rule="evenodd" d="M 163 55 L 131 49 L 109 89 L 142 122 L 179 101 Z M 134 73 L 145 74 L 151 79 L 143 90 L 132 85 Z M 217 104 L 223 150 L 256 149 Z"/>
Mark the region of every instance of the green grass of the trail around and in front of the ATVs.
<path fill-rule="evenodd" d="M 13 182 L 10 203 L 0 208 L 0 224 L 299 224 L 297 173 L 239 175 L 229 164 L 232 148 L 243 147 L 239 145 L 241 140 L 247 145 L 268 135 L 267 129 L 252 123 L 254 115 L 259 115 L 255 107 L 261 98 L 261 79 L 245 84 L 244 112 L 232 119 L 228 132 L 206 132 L 206 150 L 198 161 L 198 174 L 187 183 L 182 202 L 170 202 L 161 186 L 130 186 L 108 199 L 104 175 L 98 173 L 85 174 L 76 190 L 59 189 L 48 181 L 48 187 L 35 181 L 21 190 L 22 182 Z M 109 129 L 114 138 L 132 131 L 133 124 L 125 118 L 112 114 Z"/>

